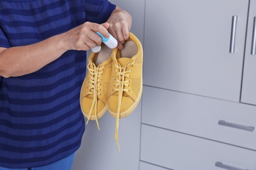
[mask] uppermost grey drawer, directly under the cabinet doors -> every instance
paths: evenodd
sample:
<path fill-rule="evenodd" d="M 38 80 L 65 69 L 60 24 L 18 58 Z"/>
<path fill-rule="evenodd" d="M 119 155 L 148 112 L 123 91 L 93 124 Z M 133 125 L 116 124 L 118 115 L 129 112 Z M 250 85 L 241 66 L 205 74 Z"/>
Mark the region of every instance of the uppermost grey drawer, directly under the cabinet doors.
<path fill-rule="evenodd" d="M 143 124 L 256 150 L 255 106 L 148 86 L 143 90 Z"/>

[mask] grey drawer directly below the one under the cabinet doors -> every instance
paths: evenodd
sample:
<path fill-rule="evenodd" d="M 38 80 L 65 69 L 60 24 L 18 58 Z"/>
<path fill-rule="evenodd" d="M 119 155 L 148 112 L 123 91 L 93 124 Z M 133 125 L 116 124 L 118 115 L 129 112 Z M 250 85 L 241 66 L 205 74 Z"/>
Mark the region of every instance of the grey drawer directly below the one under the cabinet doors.
<path fill-rule="evenodd" d="M 167 129 L 142 125 L 140 160 L 176 170 L 256 169 L 256 152 Z M 234 169 L 234 168 L 233 168 Z"/>

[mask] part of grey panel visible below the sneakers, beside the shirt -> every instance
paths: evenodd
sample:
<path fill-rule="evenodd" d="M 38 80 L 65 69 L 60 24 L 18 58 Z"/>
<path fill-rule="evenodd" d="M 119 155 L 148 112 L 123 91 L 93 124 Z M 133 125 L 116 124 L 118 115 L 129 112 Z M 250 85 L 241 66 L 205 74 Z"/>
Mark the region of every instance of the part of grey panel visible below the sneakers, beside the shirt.
<path fill-rule="evenodd" d="M 119 144 L 115 141 L 116 119 L 107 111 L 98 120 L 86 125 L 81 147 L 75 152 L 72 170 L 138 170 L 140 160 L 141 103 L 119 122 Z M 132 140 L 131 140 L 132 139 Z"/>

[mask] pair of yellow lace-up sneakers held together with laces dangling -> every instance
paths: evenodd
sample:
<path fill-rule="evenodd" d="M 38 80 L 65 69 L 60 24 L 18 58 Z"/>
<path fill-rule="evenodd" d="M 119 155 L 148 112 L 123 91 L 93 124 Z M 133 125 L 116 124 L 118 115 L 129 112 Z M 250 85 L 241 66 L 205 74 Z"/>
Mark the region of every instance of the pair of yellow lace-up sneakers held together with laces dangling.
<path fill-rule="evenodd" d="M 142 95 L 142 51 L 139 39 L 131 32 L 121 50 L 103 45 L 100 52 L 89 56 L 81 87 L 80 105 L 87 124 L 96 120 L 98 126 L 98 119 L 107 109 L 116 118 L 115 139 L 119 151 L 119 119 L 133 112 Z"/>

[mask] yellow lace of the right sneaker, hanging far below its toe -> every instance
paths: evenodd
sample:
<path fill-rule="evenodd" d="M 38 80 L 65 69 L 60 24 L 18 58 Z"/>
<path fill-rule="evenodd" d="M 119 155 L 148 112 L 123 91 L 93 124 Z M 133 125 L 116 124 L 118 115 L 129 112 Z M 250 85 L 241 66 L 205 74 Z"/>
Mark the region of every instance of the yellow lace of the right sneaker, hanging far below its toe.
<path fill-rule="evenodd" d="M 119 63 L 115 63 L 115 71 L 116 75 L 118 78 L 116 79 L 116 86 L 117 88 L 114 88 L 114 92 L 119 92 L 118 93 L 118 103 L 117 103 L 117 116 L 116 116 L 116 144 L 118 146 L 118 150 L 120 151 L 120 146 L 119 146 L 119 140 L 118 140 L 118 129 L 119 129 L 119 119 L 120 119 L 120 110 L 121 110 L 121 99 L 123 97 L 123 92 L 129 92 L 130 90 L 127 89 L 129 87 L 129 82 L 130 80 L 126 80 L 126 77 L 130 77 L 129 73 L 131 72 L 131 69 L 127 69 L 130 65 L 133 66 L 135 61 L 131 63 L 127 63 L 124 67 L 121 67 Z"/>

